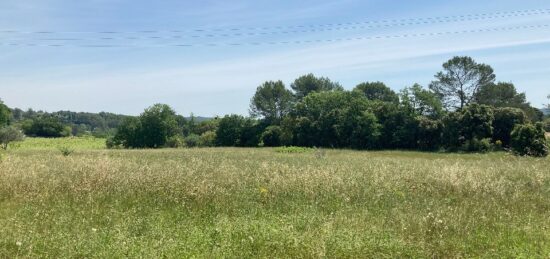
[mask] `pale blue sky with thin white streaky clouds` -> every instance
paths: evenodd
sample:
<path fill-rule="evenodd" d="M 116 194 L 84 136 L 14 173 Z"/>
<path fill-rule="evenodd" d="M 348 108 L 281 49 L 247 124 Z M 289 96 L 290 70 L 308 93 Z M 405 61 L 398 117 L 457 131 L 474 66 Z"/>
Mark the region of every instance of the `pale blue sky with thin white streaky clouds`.
<path fill-rule="evenodd" d="M 548 0 L 2 0 L 0 99 L 137 115 L 248 114 L 268 80 L 428 86 L 457 55 L 535 107 L 550 94 Z"/>

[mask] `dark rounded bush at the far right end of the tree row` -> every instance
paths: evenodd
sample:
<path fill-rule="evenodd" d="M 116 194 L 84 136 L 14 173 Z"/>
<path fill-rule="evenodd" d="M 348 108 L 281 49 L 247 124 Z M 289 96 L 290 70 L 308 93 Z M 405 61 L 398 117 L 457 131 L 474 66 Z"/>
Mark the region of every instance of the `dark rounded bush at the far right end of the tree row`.
<path fill-rule="evenodd" d="M 548 143 L 542 123 L 516 125 L 512 131 L 512 151 L 520 156 L 545 157 Z"/>

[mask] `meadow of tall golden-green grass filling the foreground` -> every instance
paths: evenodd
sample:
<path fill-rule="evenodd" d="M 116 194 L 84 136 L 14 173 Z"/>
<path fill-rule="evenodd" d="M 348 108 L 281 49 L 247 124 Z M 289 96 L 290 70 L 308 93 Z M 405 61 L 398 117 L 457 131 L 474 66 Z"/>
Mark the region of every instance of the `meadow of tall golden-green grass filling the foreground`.
<path fill-rule="evenodd" d="M 27 144 L 0 258 L 550 257 L 550 159 Z"/>

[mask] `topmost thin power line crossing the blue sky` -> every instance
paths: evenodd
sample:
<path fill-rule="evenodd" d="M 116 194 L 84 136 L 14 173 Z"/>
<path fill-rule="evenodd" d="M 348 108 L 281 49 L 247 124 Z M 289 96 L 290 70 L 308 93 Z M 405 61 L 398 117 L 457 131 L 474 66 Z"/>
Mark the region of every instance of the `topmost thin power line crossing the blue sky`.
<path fill-rule="evenodd" d="M 141 30 L 141 31 L 22 31 L 22 30 L 0 30 L 1 34 L 39 34 L 39 35 L 52 35 L 52 34 L 160 34 L 160 33 L 205 33 L 205 32 L 234 32 L 234 31 L 261 31 L 261 30 L 288 30 L 288 29 L 299 29 L 303 30 L 304 28 L 330 28 L 330 27 L 347 27 L 352 28 L 354 26 L 405 26 L 405 25 L 415 25 L 415 24 L 431 24 L 437 22 L 445 22 L 448 20 L 461 21 L 461 20 L 484 20 L 492 18 L 506 18 L 506 17 L 520 17 L 520 16 L 530 16 L 530 15 L 540 15 L 548 14 L 550 9 L 532 9 L 532 10 L 519 10 L 519 11 L 508 11 L 508 12 L 494 12 L 494 13 L 481 13 L 481 14 L 464 14 L 464 15 L 453 15 L 453 16 L 436 16 L 436 17 L 424 17 L 424 18 L 408 18 L 408 19 L 393 19 L 393 20 L 378 20 L 378 21 L 360 21 L 360 22 L 347 22 L 347 23 L 328 23 L 328 24 L 310 24 L 310 25 L 290 25 L 290 26 L 274 26 L 274 27 L 248 27 L 248 28 L 218 28 L 218 29 L 192 29 L 192 30 Z M 484 18 L 485 17 L 485 18 Z M 367 27 L 367 26 L 365 26 Z M 301 31 L 297 31 L 301 32 Z M 256 33 L 253 35 L 263 35 L 260 32 L 250 32 Z M 273 33 L 273 32 L 267 32 Z M 285 33 L 285 32 L 279 32 Z M 291 32 L 289 32 L 291 33 Z M 229 34 L 228 34 L 229 35 Z M 240 35 L 246 36 L 246 35 Z"/>

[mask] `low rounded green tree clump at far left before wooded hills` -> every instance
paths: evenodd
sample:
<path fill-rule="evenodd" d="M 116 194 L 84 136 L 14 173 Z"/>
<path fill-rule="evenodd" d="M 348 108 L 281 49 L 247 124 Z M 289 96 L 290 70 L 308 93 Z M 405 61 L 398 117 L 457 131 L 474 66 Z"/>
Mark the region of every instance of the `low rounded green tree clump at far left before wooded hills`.
<path fill-rule="evenodd" d="M 42 116 L 25 121 L 22 125 L 25 135 L 30 137 L 60 138 L 70 136 L 70 128 L 56 117 Z"/>

